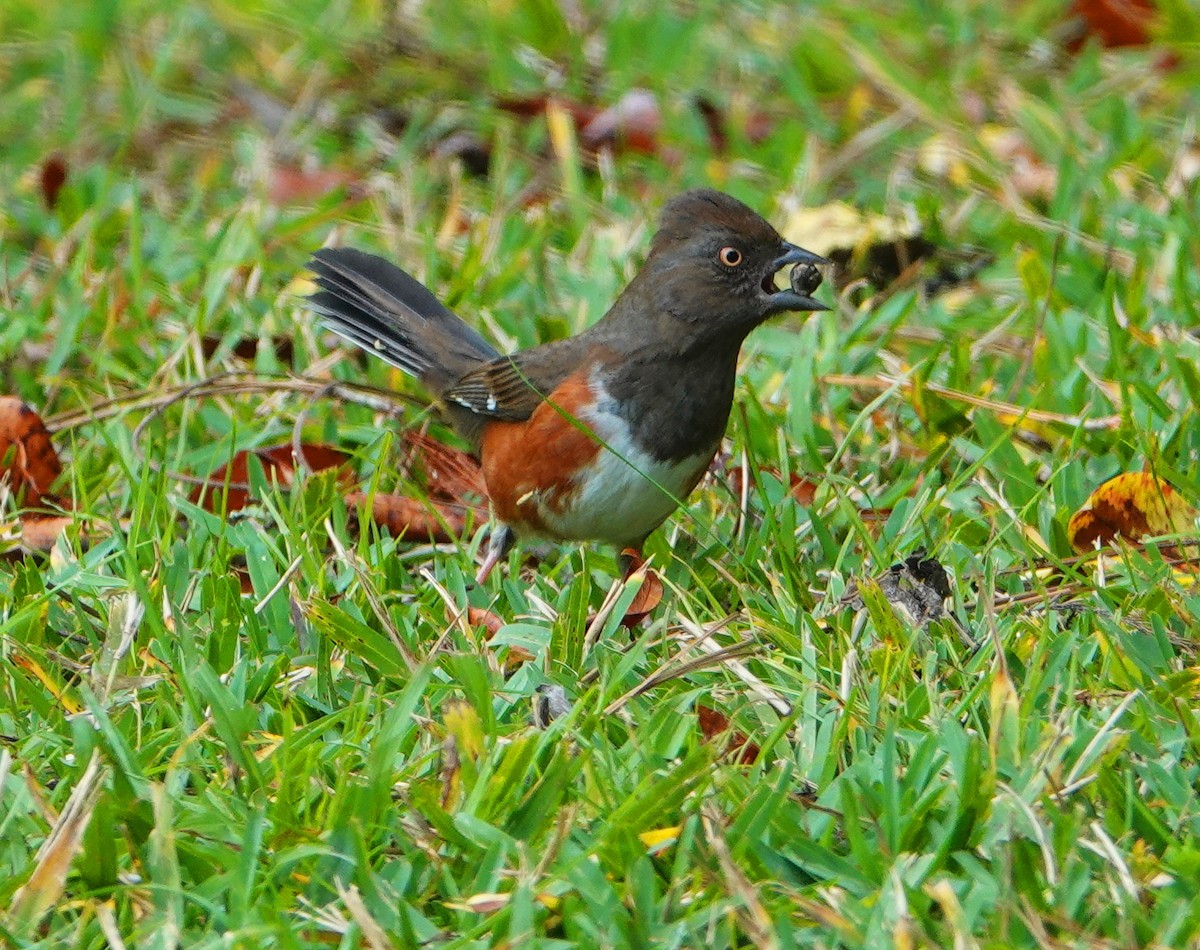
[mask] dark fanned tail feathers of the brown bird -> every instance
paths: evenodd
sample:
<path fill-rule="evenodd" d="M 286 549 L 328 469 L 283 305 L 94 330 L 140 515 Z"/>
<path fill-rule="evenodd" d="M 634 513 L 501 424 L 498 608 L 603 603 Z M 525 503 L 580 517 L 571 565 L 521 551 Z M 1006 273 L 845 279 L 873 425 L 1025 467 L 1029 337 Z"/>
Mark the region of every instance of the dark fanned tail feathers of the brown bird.
<path fill-rule="evenodd" d="M 329 329 L 419 377 L 436 395 L 500 355 L 415 277 L 383 258 L 325 247 L 310 266 L 320 290 L 308 302 Z"/>

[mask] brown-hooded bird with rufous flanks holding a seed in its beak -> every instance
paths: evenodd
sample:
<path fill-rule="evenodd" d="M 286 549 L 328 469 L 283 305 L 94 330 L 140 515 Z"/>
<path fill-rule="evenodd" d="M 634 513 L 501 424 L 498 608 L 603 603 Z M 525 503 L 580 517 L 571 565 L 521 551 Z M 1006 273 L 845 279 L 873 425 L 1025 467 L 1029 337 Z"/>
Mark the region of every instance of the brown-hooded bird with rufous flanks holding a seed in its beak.
<path fill-rule="evenodd" d="M 666 203 L 642 267 L 576 336 L 502 354 L 415 277 L 352 247 L 312 255 L 307 302 L 416 377 L 478 455 L 496 522 L 482 584 L 516 537 L 607 543 L 636 564 L 720 449 L 743 341 L 779 313 L 829 309 L 811 296 L 828 264 L 695 188 Z"/>

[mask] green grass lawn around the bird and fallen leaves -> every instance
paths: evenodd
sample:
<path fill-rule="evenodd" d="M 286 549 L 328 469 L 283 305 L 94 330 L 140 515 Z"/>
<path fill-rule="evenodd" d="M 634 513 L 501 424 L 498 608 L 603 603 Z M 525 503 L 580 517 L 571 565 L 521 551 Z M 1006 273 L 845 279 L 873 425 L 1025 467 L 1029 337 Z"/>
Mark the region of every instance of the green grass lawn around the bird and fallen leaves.
<path fill-rule="evenodd" d="M 1154 48 L 1069 56 L 1051 2 L 499 6 L 0 13 L 0 393 L 62 422 L 79 512 L 50 558 L 0 563 L 0 908 L 19 912 L 2 939 L 1193 945 L 1200 595 L 1153 546 L 1103 573 L 1069 561 L 1066 525 L 1142 467 L 1200 497 L 1200 59 L 1170 40 L 1200 35 L 1195 12 L 1163 0 Z M 659 96 L 668 154 L 598 175 L 564 173 L 545 124 L 493 101 L 631 86 Z M 715 155 L 698 94 L 766 112 L 770 134 Z M 488 178 L 430 157 L 458 128 L 494 144 Z M 47 209 L 54 152 L 68 179 Z M 1054 186 L 1030 186 L 1026 160 Z M 280 202 L 278 164 L 353 187 Z M 584 642 L 611 551 L 515 554 L 480 590 L 479 533 L 431 553 L 359 531 L 324 477 L 264 483 L 224 519 L 175 479 L 299 426 L 364 483 L 410 491 L 395 433 L 418 409 L 227 395 L 137 439 L 144 409 L 89 417 L 229 369 L 415 393 L 328 359 L 294 282 L 313 248 L 386 253 L 523 347 L 599 318 L 661 203 L 703 184 L 781 227 L 834 200 L 910 215 L 995 263 L 950 294 L 850 296 L 751 337 L 728 445 L 756 473 L 746 510 L 719 479 L 652 539 L 666 596 L 632 638 L 618 605 Z M 526 208 L 533 187 L 551 200 Z M 294 365 L 230 354 L 281 336 Z M 914 389 L 836 379 L 884 373 Z M 926 384 L 1118 425 L 1019 421 Z M 820 481 L 811 506 L 792 473 Z M 839 606 L 922 547 L 977 650 L 870 596 Z M 484 642 L 468 603 L 509 624 Z M 628 696 L 710 630 L 755 650 Z M 508 669 L 515 647 L 536 659 Z M 538 730 L 545 684 L 574 707 Z M 701 704 L 756 764 L 703 740 Z M 38 856 L 55 823 L 65 880 Z"/>

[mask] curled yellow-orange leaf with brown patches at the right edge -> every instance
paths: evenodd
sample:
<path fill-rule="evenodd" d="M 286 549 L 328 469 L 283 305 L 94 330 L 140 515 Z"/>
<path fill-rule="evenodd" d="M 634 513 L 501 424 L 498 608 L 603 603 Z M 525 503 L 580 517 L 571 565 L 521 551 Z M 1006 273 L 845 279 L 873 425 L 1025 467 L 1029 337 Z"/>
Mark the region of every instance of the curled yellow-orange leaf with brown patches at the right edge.
<path fill-rule="evenodd" d="M 1127 471 L 1092 492 L 1070 517 L 1067 537 L 1075 551 L 1118 536 L 1139 541 L 1150 535 L 1177 534 L 1193 527 L 1196 512 L 1170 485 L 1146 471 Z"/>

